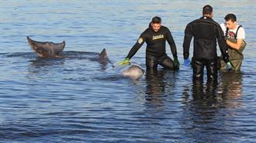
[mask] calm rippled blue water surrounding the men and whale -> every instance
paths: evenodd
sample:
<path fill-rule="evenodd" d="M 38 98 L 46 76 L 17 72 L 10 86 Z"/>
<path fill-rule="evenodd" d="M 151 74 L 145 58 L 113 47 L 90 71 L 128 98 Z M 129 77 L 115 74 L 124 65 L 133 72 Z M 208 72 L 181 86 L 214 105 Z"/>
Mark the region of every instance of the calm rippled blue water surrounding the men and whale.
<path fill-rule="evenodd" d="M 192 83 L 181 65 L 139 80 L 95 60 L 123 60 L 150 19 L 171 29 L 182 60 L 186 24 L 213 5 L 246 31 L 242 73 Z M 0 142 L 254 142 L 256 2 L 0 1 Z M 37 58 L 26 36 L 67 45 L 64 58 Z M 169 46 L 168 55 L 171 56 Z M 145 69 L 145 46 L 133 61 Z"/>

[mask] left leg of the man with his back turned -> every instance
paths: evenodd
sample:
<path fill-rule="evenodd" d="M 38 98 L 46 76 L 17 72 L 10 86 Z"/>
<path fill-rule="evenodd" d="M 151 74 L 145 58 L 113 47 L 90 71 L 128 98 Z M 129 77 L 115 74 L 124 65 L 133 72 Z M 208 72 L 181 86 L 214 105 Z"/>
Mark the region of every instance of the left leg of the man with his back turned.
<path fill-rule="evenodd" d="M 199 60 L 192 60 L 193 80 L 203 80 L 203 68 L 205 63 Z"/>

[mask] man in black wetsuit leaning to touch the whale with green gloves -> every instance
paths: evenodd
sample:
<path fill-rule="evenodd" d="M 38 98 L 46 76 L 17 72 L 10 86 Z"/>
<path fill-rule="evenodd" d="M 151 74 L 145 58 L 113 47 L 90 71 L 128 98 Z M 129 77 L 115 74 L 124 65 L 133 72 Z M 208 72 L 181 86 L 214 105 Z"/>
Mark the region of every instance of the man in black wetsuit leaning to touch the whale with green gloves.
<path fill-rule="evenodd" d="M 167 55 L 165 50 L 165 43 L 168 41 L 171 46 L 171 53 L 174 60 Z M 179 62 L 175 41 L 171 36 L 171 32 L 167 27 L 161 26 L 161 18 L 155 16 L 147 28 L 137 40 L 137 43 L 130 49 L 126 59 L 119 64 L 130 63 L 130 59 L 137 53 L 138 49 L 147 43 L 146 49 L 146 66 L 147 70 L 157 70 L 157 65 L 160 64 L 164 68 L 170 70 L 178 70 Z"/>

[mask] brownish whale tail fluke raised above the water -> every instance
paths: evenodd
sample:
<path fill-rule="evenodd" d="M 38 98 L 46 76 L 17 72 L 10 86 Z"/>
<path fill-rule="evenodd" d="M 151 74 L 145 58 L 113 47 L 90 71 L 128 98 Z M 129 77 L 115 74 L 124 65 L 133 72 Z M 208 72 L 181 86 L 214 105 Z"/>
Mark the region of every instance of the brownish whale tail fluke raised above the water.
<path fill-rule="evenodd" d="M 62 43 L 52 42 L 38 42 L 26 37 L 29 46 L 33 49 L 41 58 L 61 56 L 61 53 L 66 45 L 65 41 Z"/>

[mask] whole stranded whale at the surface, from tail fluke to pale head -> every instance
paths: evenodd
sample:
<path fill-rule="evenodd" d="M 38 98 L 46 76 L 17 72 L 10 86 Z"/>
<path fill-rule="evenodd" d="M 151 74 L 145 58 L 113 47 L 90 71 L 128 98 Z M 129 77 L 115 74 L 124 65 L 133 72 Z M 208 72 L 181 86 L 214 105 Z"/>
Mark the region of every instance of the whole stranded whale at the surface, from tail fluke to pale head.
<path fill-rule="evenodd" d="M 65 41 L 62 43 L 52 43 L 52 42 L 39 42 L 33 39 L 30 39 L 29 36 L 26 37 L 29 43 L 29 46 L 40 58 L 83 58 L 81 54 L 84 52 L 62 52 L 65 47 Z M 90 54 L 90 53 L 87 53 Z M 91 53 L 92 54 L 92 53 Z M 92 54 L 94 55 L 94 53 Z M 85 59 L 89 59 L 92 61 L 98 61 L 103 65 L 102 69 L 105 69 L 107 63 L 111 63 L 112 68 L 116 69 L 115 65 L 109 60 L 106 49 L 102 49 L 102 52 L 98 53 L 97 56 L 94 57 L 84 57 Z M 145 71 L 142 69 L 140 65 L 137 63 L 130 63 L 124 66 L 118 66 L 119 72 L 123 77 L 131 77 L 133 79 L 137 79 L 142 77 Z M 120 70 L 121 69 L 121 70 Z"/>

